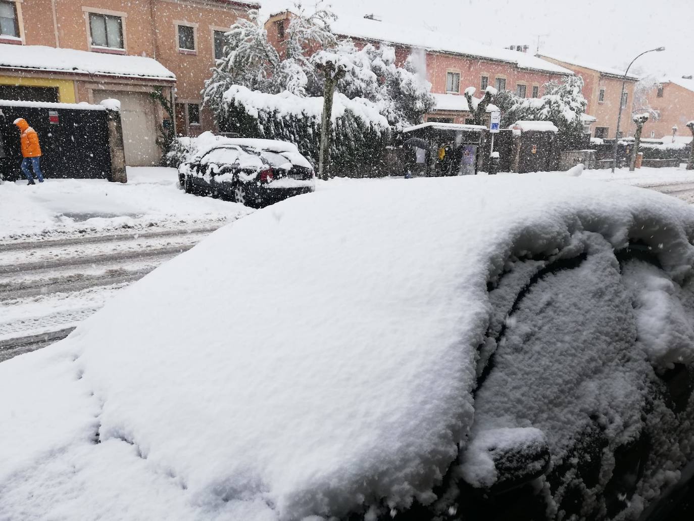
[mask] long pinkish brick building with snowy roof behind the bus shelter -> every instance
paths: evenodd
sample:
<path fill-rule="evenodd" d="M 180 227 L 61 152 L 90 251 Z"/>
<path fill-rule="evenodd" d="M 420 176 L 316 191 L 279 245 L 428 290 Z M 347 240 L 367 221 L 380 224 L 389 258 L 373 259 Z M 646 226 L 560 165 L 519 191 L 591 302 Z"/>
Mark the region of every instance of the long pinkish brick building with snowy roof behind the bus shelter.
<path fill-rule="evenodd" d="M 290 10 L 272 15 L 266 23 L 269 39 L 282 49 Z M 498 90 L 512 90 L 521 97 L 540 97 L 543 85 L 552 79 L 570 76 L 566 67 L 536 58 L 520 51 L 499 49 L 425 29 L 390 24 L 374 17 L 339 17 L 332 30 L 352 39 L 357 46 L 387 43 L 396 51 L 396 63 L 403 65 L 413 56 L 432 84 L 437 107 L 425 115 L 426 121 L 465 123 L 470 113 L 463 92 L 475 87 L 479 95 L 488 85 Z"/>

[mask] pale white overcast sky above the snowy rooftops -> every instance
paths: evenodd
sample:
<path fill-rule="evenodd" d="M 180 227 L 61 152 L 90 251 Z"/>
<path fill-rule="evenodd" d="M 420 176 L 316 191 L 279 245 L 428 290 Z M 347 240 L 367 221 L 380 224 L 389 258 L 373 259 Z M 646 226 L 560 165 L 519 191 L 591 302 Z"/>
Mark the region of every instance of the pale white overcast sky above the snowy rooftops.
<path fill-rule="evenodd" d="M 290 5 L 261 0 L 264 8 Z M 305 7 L 315 0 L 305 0 Z M 403 26 L 462 32 L 497 47 L 540 51 L 625 67 L 641 51 L 665 46 L 634 64 L 648 72 L 694 74 L 694 0 L 332 0 L 333 10 L 374 13 Z M 265 10 L 265 9 L 264 9 Z"/>

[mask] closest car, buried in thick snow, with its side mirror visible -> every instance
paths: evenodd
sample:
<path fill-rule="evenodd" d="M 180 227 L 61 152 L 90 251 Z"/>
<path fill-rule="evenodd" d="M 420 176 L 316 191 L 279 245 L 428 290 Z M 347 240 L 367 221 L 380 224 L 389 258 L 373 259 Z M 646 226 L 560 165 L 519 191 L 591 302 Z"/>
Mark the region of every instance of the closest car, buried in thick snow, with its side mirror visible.
<path fill-rule="evenodd" d="M 672 518 L 693 240 L 681 201 L 556 174 L 287 199 L 0 363 L 0 513 Z"/>

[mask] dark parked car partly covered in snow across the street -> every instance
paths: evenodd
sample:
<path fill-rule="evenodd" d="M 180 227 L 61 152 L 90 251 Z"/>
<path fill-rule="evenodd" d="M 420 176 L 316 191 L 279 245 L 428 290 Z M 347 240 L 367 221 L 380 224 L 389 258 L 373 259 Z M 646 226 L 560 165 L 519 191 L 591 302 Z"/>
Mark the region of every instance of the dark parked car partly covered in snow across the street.
<path fill-rule="evenodd" d="M 178 181 L 187 193 L 254 207 L 315 190 L 314 169 L 296 145 L 249 138 L 226 138 L 199 151 L 180 165 Z"/>

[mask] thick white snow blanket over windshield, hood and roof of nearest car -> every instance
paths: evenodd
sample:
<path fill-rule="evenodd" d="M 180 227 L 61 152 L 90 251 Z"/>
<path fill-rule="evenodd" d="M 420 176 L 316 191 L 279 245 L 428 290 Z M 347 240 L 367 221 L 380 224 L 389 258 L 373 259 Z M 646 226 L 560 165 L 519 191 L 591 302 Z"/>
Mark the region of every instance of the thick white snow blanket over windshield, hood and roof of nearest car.
<path fill-rule="evenodd" d="M 471 426 L 486 283 L 509 258 L 592 232 L 682 278 L 693 231 L 681 201 L 560 174 L 282 201 L 0 364 L 0 511 L 274 520 L 430 501 Z"/>

